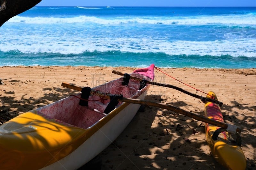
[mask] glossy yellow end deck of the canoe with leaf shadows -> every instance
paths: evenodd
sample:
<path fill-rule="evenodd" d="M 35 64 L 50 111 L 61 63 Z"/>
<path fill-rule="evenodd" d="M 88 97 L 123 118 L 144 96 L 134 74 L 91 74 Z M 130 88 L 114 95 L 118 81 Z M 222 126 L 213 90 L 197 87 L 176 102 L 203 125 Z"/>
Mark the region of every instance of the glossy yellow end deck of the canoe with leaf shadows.
<path fill-rule="evenodd" d="M 32 110 L 4 123 L 0 131 L 9 138 L 1 140 L 0 136 L 1 168 L 40 169 L 73 152 L 84 142 L 87 130 Z"/>

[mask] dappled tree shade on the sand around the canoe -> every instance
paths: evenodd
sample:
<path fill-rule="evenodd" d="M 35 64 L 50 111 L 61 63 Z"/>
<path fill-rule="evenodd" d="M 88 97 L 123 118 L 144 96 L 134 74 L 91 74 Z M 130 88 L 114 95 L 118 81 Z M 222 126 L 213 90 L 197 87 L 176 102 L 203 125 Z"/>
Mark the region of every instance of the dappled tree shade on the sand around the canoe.
<path fill-rule="evenodd" d="M 15 117 L 19 112 L 42 107 L 76 93 L 68 88 L 45 88 L 43 91 L 44 96 L 39 99 L 22 97 L 17 101 L 14 97 L 0 96 L 4 104 L 0 109 L 1 123 Z M 5 93 L 13 94 L 12 92 Z M 160 102 L 161 96 L 148 95 L 145 100 Z M 228 123 L 232 122 L 244 128 L 243 130 L 247 133 L 242 133 L 242 146 L 247 145 L 249 143 L 243 142 L 244 138 L 251 138 L 251 141 L 255 141 L 253 129 L 256 126 L 256 118 L 253 115 L 244 114 L 243 119 L 239 120 L 236 118 L 239 113 L 233 109 L 239 107 L 255 112 L 255 107 L 247 107 L 236 101 L 232 103 L 232 106 L 222 106 L 224 113 L 233 113 L 232 116 L 224 115 L 224 119 Z M 187 104 L 179 101 L 172 105 L 186 106 Z M 16 108 L 15 112 L 10 111 L 11 108 Z M 204 115 L 204 112 L 199 111 L 196 114 Z M 256 148 L 256 142 L 250 145 Z M 223 169 L 209 151 L 206 154 L 205 148 L 207 144 L 204 126 L 198 126 L 198 122 L 189 117 L 165 109 L 145 106 L 135 115 L 124 132 L 97 156 L 96 161 L 95 159 L 93 161 L 101 169 Z M 252 153 L 255 153 L 255 150 Z M 247 160 L 247 169 L 253 169 L 252 164 L 253 160 Z M 87 164 L 80 169 L 88 168 L 88 166 L 91 167 Z"/>

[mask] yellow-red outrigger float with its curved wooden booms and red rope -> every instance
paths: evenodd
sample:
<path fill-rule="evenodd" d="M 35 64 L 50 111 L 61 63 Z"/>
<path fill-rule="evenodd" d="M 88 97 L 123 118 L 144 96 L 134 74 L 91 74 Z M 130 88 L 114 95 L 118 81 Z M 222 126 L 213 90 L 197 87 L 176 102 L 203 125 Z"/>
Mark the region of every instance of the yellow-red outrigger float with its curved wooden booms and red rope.
<path fill-rule="evenodd" d="M 159 70 L 159 69 L 157 69 L 157 70 Z M 161 70 L 159 70 L 159 71 L 161 71 Z M 161 71 L 161 72 L 163 72 L 163 71 Z M 123 73 L 115 71 L 115 70 L 113 70 L 113 73 L 124 76 Z M 167 76 L 169 76 L 169 75 L 167 75 Z M 169 77 L 171 77 L 171 76 L 169 76 Z M 175 80 L 177 80 L 177 79 L 175 79 Z M 179 82 L 181 82 L 181 81 L 179 81 Z M 222 113 L 220 111 L 220 106 L 222 106 L 222 102 L 218 101 L 217 96 L 215 95 L 214 92 L 209 92 L 209 93 L 207 93 L 206 97 L 203 97 L 203 96 L 199 96 L 197 94 L 190 93 L 188 91 L 185 91 L 185 90 L 183 90 L 179 87 L 173 86 L 173 85 L 160 84 L 160 83 L 150 82 L 150 81 L 147 81 L 147 83 L 151 84 L 151 85 L 172 88 L 172 89 L 178 90 L 180 92 L 184 92 L 185 94 L 188 94 L 190 96 L 193 96 L 195 98 L 202 100 L 205 103 L 205 105 L 204 105 L 205 106 L 205 115 L 201 117 L 201 115 L 196 115 L 196 114 L 190 113 L 188 111 L 182 110 L 180 108 L 173 107 L 171 105 L 165 105 L 162 103 L 155 103 L 155 102 L 150 102 L 150 101 L 128 100 L 125 102 L 139 103 L 142 105 L 165 108 L 167 110 L 172 110 L 176 113 L 186 115 L 186 116 L 196 119 L 198 121 L 205 122 L 206 123 L 205 124 L 205 133 L 206 133 L 207 144 L 210 147 L 210 152 L 211 152 L 212 156 L 222 166 L 224 166 L 228 169 L 243 170 L 246 168 L 246 160 L 245 160 L 244 152 L 242 151 L 242 148 L 240 147 L 241 146 L 241 137 L 238 134 L 241 132 L 241 129 L 235 125 L 227 124 L 224 122 Z M 181 83 L 183 83 L 183 82 L 181 82 Z M 183 84 L 185 84 L 185 83 L 183 83 Z M 198 89 L 196 89 L 196 90 L 200 91 Z M 205 93 L 205 92 L 203 92 L 203 93 Z M 236 143 L 231 143 L 232 141 L 229 139 L 230 134 L 236 134 L 236 141 L 235 141 Z"/>

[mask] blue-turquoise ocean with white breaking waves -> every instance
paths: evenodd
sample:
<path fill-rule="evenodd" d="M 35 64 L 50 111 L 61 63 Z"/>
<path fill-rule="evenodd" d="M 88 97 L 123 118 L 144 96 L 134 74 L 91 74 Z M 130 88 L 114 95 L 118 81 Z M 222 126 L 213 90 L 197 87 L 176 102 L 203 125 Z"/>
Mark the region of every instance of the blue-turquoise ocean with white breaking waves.
<path fill-rule="evenodd" d="M 256 68 L 256 7 L 36 6 L 0 32 L 0 66 Z"/>

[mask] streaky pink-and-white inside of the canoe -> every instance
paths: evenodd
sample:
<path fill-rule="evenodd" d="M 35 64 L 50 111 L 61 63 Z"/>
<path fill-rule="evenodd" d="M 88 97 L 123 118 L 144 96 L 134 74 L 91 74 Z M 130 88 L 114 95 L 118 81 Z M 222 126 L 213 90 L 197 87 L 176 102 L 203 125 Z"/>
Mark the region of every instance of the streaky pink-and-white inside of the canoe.
<path fill-rule="evenodd" d="M 141 75 L 138 75 L 138 73 L 132 73 L 131 75 L 141 77 Z M 151 73 L 150 77 L 152 77 Z M 116 95 L 123 94 L 123 96 L 127 98 L 137 98 L 136 94 L 139 92 L 140 82 L 130 79 L 128 85 L 122 85 L 123 81 L 123 78 L 119 78 L 106 84 L 97 86 L 93 88 L 93 90 L 100 90 L 103 93 Z M 77 94 L 77 96 L 80 97 L 81 93 Z M 89 100 L 99 99 L 100 97 L 98 96 L 89 97 Z M 83 129 L 92 126 L 106 115 L 103 113 L 105 108 L 108 106 L 109 99 L 104 101 L 89 101 L 88 107 L 80 106 L 79 101 L 80 99 L 76 98 L 75 96 L 69 96 L 68 98 L 59 100 L 50 105 L 38 108 L 38 114 L 47 118 L 57 119 L 58 121 L 65 122 Z M 118 103 L 118 105 L 120 104 L 122 104 L 122 102 Z"/>

